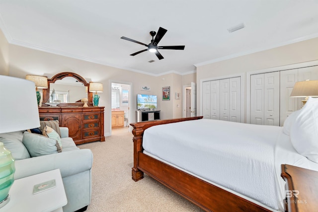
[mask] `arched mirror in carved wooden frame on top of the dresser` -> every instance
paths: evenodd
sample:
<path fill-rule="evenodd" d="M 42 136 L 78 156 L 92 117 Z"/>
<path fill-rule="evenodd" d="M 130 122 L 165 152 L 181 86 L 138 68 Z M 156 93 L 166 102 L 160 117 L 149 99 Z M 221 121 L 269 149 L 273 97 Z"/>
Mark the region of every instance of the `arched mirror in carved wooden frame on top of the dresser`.
<path fill-rule="evenodd" d="M 82 106 L 82 98 L 88 99 L 88 106 L 92 106 L 92 93 L 89 90 L 89 83 L 77 73 L 61 72 L 48 79 L 48 89 L 43 89 L 43 106 L 50 98 L 53 89 L 57 94 L 57 98 L 61 102 L 60 107 L 63 106 Z"/>

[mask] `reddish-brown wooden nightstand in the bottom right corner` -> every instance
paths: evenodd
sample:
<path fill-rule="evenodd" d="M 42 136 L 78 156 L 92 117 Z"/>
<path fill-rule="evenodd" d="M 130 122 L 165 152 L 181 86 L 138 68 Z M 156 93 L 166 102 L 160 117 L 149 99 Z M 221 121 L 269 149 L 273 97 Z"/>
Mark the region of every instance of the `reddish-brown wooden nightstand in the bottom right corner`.
<path fill-rule="evenodd" d="M 281 176 L 286 181 L 285 211 L 317 211 L 318 171 L 282 164 Z"/>

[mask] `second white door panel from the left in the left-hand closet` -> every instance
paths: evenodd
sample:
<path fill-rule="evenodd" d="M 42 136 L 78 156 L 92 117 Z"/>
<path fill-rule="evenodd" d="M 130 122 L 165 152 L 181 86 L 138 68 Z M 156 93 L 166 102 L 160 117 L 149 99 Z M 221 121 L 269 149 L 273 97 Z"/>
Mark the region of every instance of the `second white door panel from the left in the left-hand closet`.
<path fill-rule="evenodd" d="M 211 81 L 211 119 L 220 120 L 220 80 Z"/>

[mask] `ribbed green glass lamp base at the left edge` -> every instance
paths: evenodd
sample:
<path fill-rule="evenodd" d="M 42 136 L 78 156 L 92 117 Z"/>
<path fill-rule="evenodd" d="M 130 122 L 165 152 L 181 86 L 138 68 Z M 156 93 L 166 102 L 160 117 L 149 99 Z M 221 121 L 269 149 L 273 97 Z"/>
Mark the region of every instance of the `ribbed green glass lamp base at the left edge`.
<path fill-rule="evenodd" d="M 14 159 L 0 142 L 0 208 L 9 202 L 9 190 L 14 182 Z"/>

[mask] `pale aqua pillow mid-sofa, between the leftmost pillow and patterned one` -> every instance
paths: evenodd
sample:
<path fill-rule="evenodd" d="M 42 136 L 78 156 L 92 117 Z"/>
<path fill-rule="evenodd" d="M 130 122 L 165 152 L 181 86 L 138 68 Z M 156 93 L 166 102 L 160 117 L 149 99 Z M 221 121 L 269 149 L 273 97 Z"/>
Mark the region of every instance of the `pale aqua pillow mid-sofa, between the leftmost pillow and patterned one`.
<path fill-rule="evenodd" d="M 29 151 L 31 157 L 61 152 L 58 141 L 39 134 L 25 131 L 23 133 L 22 142 Z"/>

